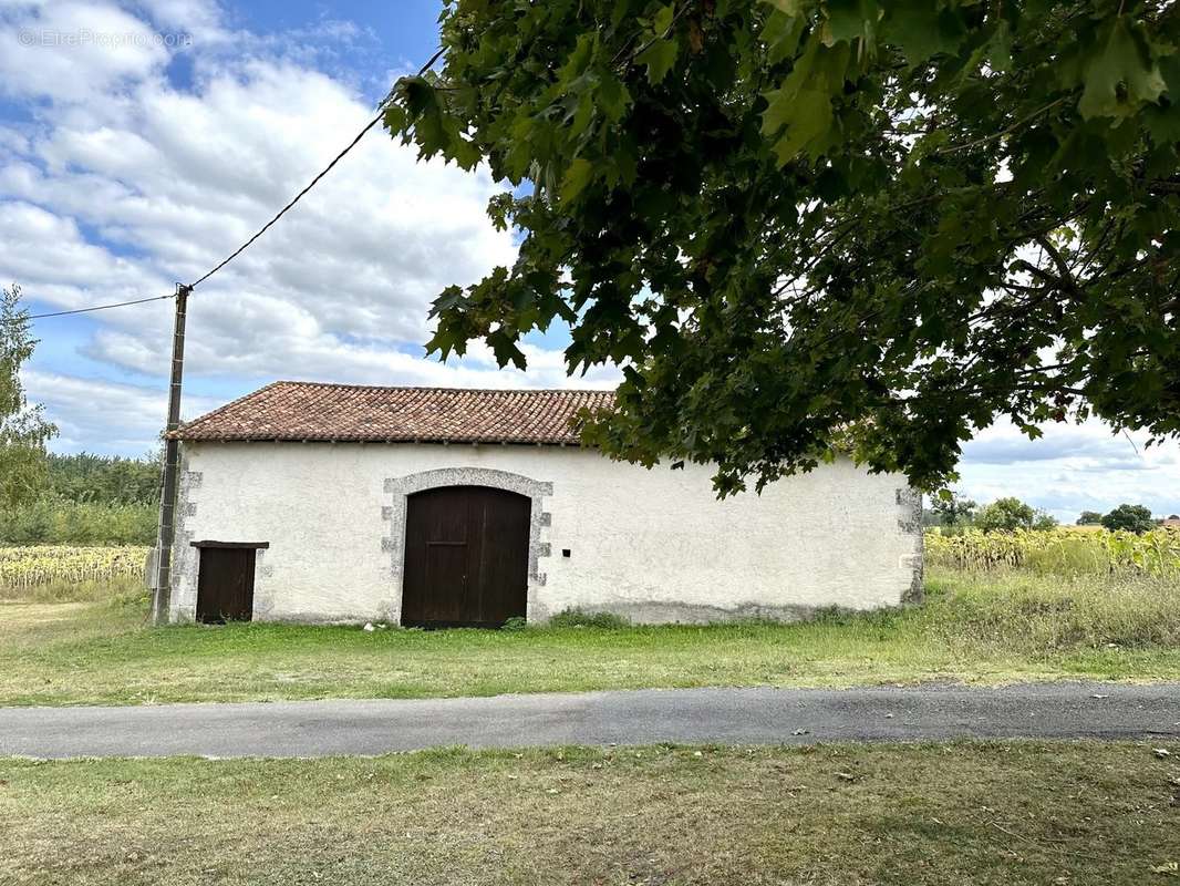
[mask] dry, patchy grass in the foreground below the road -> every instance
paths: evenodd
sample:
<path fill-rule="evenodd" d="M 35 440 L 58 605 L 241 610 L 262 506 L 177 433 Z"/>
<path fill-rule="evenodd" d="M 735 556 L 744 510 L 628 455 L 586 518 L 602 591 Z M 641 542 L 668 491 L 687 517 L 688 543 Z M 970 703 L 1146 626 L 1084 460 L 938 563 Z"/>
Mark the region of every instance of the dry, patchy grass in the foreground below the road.
<path fill-rule="evenodd" d="M 0 882 L 1165 886 L 1153 747 L 0 760 Z"/>

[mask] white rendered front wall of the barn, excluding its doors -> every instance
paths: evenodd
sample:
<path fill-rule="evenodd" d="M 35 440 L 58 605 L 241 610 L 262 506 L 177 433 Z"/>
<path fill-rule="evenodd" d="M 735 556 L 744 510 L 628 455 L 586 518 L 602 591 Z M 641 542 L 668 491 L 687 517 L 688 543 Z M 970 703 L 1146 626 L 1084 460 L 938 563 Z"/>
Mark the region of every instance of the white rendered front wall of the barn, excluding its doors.
<path fill-rule="evenodd" d="M 186 443 L 184 461 L 175 620 L 196 611 L 191 542 L 264 541 L 255 618 L 396 621 L 405 491 L 440 469 L 505 471 L 538 496 L 530 620 L 570 607 L 791 619 L 920 593 L 920 500 L 903 477 L 848 461 L 725 501 L 706 467 L 647 470 L 578 448 Z"/>

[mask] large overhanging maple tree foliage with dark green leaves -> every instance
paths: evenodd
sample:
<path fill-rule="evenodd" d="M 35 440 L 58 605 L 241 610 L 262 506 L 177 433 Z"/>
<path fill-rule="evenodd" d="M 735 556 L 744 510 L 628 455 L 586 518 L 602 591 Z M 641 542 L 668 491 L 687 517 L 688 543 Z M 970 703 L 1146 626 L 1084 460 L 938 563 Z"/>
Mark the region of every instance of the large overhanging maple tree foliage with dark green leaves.
<path fill-rule="evenodd" d="M 441 41 L 386 125 L 523 239 L 430 347 L 570 324 L 625 374 L 588 442 L 725 494 L 838 445 L 936 488 L 997 416 L 1180 432 L 1175 4 L 450 0 Z"/>

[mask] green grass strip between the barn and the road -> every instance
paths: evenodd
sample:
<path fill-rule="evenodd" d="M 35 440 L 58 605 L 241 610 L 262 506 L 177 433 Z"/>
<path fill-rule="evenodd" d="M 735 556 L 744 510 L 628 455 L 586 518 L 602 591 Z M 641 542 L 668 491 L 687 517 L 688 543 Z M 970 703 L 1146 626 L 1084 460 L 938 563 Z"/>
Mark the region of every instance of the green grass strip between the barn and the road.
<path fill-rule="evenodd" d="M 798 625 L 401 631 L 144 626 L 0 602 L 0 704 L 418 698 L 643 686 L 1180 679 L 1180 587 L 931 571 L 926 602 Z"/>

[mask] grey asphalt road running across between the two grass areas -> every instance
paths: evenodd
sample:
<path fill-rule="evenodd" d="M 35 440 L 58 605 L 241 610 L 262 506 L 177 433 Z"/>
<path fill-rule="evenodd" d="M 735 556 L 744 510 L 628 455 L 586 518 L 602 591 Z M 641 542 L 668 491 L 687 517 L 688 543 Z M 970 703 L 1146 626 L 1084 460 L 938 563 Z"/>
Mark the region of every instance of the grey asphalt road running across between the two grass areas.
<path fill-rule="evenodd" d="M 682 689 L 0 709 L 0 755 L 315 757 L 439 745 L 1180 738 L 1180 684 Z"/>

